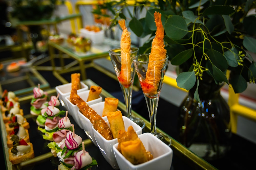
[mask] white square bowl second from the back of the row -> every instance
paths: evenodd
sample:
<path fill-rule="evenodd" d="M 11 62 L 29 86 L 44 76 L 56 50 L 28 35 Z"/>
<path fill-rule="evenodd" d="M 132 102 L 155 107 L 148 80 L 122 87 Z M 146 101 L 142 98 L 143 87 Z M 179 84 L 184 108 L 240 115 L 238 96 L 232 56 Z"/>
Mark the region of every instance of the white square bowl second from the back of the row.
<path fill-rule="evenodd" d="M 87 101 L 89 92 L 90 92 L 90 90 L 81 91 L 81 92 L 77 92 L 77 95 L 84 101 Z M 67 103 L 66 109 L 68 110 L 69 115 L 71 115 L 73 117 L 73 119 L 76 121 L 76 123 L 79 125 L 80 128 L 83 128 L 81 121 L 80 121 L 80 117 L 78 115 L 78 110 L 79 110 L 78 106 L 71 103 L 70 95 L 65 97 L 65 101 Z M 98 99 L 94 99 L 94 100 L 88 101 L 86 103 L 90 106 L 91 104 L 95 104 L 98 102 L 102 102 L 101 96 Z"/>

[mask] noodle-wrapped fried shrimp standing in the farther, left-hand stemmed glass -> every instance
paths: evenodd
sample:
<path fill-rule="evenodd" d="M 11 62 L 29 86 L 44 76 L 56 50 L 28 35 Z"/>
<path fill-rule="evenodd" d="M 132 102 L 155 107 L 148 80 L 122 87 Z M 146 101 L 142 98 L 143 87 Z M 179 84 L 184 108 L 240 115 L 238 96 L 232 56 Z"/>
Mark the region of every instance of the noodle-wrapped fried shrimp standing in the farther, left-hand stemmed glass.
<path fill-rule="evenodd" d="M 123 86 L 129 86 L 131 83 L 131 33 L 125 27 L 125 20 L 121 19 L 118 21 L 120 27 L 122 28 L 121 36 L 121 71 L 119 75 L 119 82 Z"/>

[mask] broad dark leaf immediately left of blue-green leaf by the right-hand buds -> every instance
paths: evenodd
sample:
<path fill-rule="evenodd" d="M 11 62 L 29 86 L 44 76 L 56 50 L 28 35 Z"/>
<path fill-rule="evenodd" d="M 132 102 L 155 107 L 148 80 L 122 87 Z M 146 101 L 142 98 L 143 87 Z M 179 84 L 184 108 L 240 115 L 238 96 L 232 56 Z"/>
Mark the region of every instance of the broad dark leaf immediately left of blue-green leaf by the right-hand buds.
<path fill-rule="evenodd" d="M 221 71 L 225 71 L 228 68 L 227 59 L 218 51 L 211 49 L 206 52 L 212 64 L 214 64 Z"/>

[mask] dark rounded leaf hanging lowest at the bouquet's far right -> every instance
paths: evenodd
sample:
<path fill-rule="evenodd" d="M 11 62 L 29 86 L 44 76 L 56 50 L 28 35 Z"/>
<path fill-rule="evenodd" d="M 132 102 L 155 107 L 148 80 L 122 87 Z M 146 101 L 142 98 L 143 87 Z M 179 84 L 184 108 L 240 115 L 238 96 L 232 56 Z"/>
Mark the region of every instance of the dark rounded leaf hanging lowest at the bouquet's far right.
<path fill-rule="evenodd" d="M 235 93 L 242 93 L 247 88 L 247 82 L 241 75 L 234 75 L 229 80 Z"/>

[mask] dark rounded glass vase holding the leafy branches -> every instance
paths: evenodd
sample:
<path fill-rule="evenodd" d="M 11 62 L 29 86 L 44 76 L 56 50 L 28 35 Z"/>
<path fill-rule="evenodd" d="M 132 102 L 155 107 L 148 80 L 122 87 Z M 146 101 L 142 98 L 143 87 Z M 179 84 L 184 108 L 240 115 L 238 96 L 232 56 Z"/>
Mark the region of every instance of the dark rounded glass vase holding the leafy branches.
<path fill-rule="evenodd" d="M 179 107 L 178 141 L 207 161 L 222 158 L 231 147 L 230 109 L 221 87 L 201 81 L 198 93 L 203 106 L 194 99 L 194 87 Z"/>

